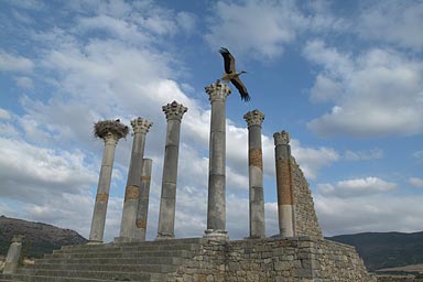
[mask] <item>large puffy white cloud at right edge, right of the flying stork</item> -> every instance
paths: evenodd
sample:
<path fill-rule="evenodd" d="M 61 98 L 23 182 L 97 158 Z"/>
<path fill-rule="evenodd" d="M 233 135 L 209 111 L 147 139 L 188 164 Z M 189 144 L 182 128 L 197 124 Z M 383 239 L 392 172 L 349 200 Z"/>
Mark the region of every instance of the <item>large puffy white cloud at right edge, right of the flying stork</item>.
<path fill-rule="evenodd" d="M 305 56 L 323 67 L 325 76 L 341 89 L 330 95 L 332 110 L 308 122 L 321 135 L 359 137 L 423 132 L 423 62 L 392 50 L 372 48 L 352 58 L 322 41 L 308 42 Z M 317 77 L 318 78 L 318 77 Z M 318 82 L 312 99 L 326 97 Z"/>

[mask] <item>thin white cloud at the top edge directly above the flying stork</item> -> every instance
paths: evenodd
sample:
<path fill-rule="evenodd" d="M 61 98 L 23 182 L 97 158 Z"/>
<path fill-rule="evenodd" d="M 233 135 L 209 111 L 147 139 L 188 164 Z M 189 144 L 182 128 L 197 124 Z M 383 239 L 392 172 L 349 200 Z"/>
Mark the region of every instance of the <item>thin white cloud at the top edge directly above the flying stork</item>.
<path fill-rule="evenodd" d="M 205 35 L 212 46 L 231 46 L 265 57 L 283 52 L 283 45 L 295 39 L 294 24 L 301 21 L 295 7 L 286 1 L 246 1 L 242 4 L 219 1 L 215 13 L 217 18 L 213 19 L 210 31 Z"/>

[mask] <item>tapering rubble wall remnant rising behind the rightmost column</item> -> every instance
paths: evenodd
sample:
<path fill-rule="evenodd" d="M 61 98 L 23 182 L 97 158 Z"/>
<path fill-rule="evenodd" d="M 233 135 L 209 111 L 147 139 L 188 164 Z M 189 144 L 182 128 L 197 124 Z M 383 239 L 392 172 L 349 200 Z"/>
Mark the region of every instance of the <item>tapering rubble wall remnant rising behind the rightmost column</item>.
<path fill-rule="evenodd" d="M 291 158 L 291 175 L 294 187 L 296 236 L 315 236 L 322 238 L 322 229 L 318 225 L 308 183 L 294 158 Z"/>

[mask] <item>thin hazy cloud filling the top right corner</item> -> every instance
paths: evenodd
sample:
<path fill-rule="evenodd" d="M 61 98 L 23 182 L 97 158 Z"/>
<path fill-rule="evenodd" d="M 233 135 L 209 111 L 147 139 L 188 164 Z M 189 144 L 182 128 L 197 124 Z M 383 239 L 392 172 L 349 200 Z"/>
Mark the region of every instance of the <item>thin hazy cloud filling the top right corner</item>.
<path fill-rule="evenodd" d="M 423 47 L 421 1 L 370 1 L 362 9 L 357 23 L 356 32 L 365 39 L 416 51 Z"/>

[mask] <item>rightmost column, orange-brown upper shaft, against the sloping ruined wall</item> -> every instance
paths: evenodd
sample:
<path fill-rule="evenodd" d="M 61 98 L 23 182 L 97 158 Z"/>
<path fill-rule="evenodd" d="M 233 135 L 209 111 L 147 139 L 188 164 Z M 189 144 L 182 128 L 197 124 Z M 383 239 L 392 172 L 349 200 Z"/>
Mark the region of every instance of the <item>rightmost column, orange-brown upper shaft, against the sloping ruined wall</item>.
<path fill-rule="evenodd" d="M 295 236 L 295 204 L 291 172 L 290 135 L 286 131 L 275 132 L 274 152 L 276 163 L 278 212 L 281 237 Z"/>

